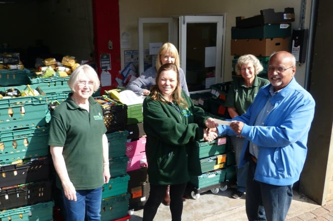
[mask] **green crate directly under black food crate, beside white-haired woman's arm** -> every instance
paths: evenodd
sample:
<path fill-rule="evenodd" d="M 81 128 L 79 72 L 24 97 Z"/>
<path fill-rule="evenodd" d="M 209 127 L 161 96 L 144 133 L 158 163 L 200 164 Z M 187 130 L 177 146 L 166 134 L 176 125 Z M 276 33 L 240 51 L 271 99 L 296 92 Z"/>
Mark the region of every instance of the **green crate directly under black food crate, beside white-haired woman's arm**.
<path fill-rule="evenodd" d="M 109 158 L 126 155 L 127 131 L 116 131 L 107 134 L 109 142 Z"/>

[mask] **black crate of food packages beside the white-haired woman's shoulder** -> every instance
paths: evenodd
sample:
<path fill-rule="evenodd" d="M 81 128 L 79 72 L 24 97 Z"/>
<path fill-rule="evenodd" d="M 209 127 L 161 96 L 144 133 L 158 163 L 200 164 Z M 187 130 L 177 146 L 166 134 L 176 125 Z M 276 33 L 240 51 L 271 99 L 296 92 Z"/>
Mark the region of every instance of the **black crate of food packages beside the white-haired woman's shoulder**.
<path fill-rule="evenodd" d="M 102 107 L 103 119 L 108 133 L 124 131 L 127 124 L 127 106 L 103 95 L 95 97 Z"/>

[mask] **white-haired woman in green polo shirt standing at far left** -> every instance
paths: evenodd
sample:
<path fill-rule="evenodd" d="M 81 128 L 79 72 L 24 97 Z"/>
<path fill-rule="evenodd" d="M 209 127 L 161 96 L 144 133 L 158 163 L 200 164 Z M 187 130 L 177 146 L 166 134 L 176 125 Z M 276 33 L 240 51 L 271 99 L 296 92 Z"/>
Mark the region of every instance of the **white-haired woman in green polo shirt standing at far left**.
<path fill-rule="evenodd" d="M 109 146 L 100 104 L 92 97 L 100 86 L 89 65 L 75 69 L 66 101 L 52 113 L 49 146 L 62 189 L 66 221 L 101 220 L 102 186 L 109 182 Z"/>

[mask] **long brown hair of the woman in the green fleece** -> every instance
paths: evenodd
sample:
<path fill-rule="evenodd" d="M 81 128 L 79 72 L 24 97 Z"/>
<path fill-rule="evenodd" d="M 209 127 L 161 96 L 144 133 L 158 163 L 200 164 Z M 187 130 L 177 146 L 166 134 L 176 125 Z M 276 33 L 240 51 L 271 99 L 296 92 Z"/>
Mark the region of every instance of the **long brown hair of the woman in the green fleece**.
<path fill-rule="evenodd" d="M 159 68 L 159 70 L 157 71 L 156 79 L 155 79 L 155 85 L 151 88 L 151 99 L 160 100 L 163 103 L 167 103 L 167 101 L 160 96 L 161 91 L 158 87 L 158 81 L 160 79 L 161 73 L 164 72 L 164 71 L 174 71 L 174 72 L 177 73 L 177 86 L 176 86 L 176 89 L 174 90 L 174 92 L 172 94 L 172 99 L 178 105 L 180 105 L 184 108 L 187 108 L 188 104 L 185 101 L 185 99 L 182 97 L 182 87 L 180 86 L 179 71 L 178 71 L 177 66 L 175 64 L 172 64 L 172 63 L 166 63 L 166 64 L 162 65 Z"/>

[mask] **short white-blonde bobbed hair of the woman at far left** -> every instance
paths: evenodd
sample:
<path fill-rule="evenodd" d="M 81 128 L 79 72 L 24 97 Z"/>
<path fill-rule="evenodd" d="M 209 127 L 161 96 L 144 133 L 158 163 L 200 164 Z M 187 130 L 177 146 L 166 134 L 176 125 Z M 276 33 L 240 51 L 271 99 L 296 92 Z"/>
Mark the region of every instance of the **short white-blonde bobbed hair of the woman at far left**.
<path fill-rule="evenodd" d="M 72 89 L 73 92 L 75 92 L 75 85 L 78 83 L 82 75 L 86 75 L 90 80 L 94 82 L 94 92 L 96 92 L 100 88 L 101 82 L 95 69 L 93 69 L 89 65 L 80 65 L 74 70 L 74 72 L 71 74 L 71 77 L 67 81 L 68 86 Z"/>

